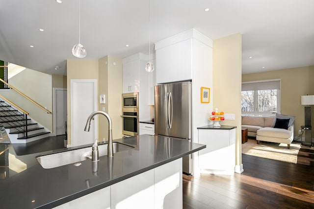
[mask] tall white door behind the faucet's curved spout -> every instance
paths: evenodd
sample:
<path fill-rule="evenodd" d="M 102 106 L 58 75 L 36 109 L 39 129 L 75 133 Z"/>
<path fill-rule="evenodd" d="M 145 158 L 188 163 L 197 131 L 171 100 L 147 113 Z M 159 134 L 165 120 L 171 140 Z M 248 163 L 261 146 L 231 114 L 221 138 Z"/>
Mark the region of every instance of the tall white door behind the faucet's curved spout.
<path fill-rule="evenodd" d="M 71 146 L 91 144 L 98 135 L 97 116 L 84 131 L 88 116 L 97 110 L 97 80 L 71 79 Z"/>

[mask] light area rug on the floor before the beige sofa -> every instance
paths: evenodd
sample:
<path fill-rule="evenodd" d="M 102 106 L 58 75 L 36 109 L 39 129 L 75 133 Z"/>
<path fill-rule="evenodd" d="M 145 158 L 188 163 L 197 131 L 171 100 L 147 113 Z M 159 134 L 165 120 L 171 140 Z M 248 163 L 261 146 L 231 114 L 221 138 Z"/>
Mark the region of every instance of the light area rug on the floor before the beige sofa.
<path fill-rule="evenodd" d="M 246 143 L 242 144 L 242 154 L 296 164 L 300 147 L 300 144 L 293 143 L 288 149 L 287 144 L 263 141 L 257 144 L 255 139 L 248 139 Z"/>

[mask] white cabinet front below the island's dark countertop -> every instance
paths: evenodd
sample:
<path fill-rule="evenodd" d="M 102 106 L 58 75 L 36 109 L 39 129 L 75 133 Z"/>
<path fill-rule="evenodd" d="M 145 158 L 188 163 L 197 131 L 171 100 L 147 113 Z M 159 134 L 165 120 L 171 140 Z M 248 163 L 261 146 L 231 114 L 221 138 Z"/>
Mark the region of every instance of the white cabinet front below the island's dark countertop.
<path fill-rule="evenodd" d="M 88 180 L 90 181 L 90 180 Z M 57 206 L 56 209 L 182 209 L 182 158 Z"/>

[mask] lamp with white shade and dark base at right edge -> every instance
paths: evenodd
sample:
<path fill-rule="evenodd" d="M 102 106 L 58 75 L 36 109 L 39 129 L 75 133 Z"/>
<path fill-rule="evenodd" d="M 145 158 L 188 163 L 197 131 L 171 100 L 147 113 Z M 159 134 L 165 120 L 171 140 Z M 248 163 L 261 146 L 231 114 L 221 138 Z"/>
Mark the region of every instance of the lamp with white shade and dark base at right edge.
<path fill-rule="evenodd" d="M 314 105 L 314 95 L 301 96 L 301 104 L 306 105 L 304 107 L 304 126 L 301 129 L 304 130 L 305 139 L 302 141 L 302 145 L 312 146 L 312 121 L 311 121 L 311 106 Z"/>

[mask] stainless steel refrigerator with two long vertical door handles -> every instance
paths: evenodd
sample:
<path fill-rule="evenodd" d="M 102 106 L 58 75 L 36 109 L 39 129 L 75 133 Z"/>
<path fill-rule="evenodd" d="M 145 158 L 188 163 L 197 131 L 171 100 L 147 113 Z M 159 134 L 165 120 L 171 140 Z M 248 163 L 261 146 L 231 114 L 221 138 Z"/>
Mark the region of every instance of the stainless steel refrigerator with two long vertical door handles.
<path fill-rule="evenodd" d="M 192 82 L 155 86 L 155 134 L 192 141 Z M 191 155 L 183 157 L 183 173 L 192 174 Z"/>

